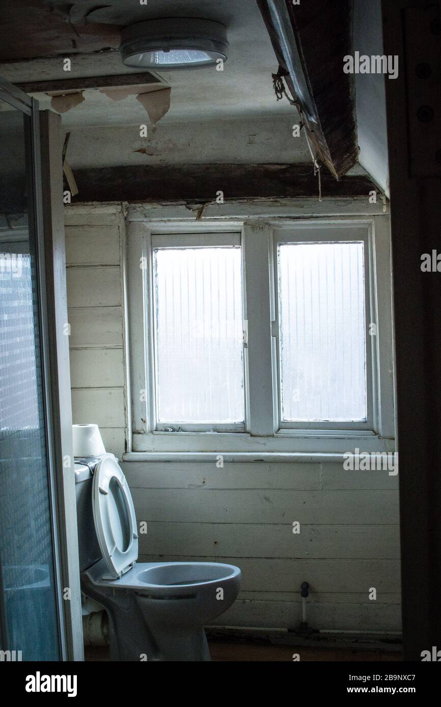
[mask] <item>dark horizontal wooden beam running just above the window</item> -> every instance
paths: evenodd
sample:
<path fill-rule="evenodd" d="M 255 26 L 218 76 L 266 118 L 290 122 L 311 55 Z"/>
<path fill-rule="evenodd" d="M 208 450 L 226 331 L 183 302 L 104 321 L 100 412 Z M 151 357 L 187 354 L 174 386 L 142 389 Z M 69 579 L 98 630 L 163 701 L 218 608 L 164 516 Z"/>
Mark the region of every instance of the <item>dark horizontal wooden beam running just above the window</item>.
<path fill-rule="evenodd" d="M 73 201 L 214 201 L 258 197 L 319 197 L 319 181 L 311 164 L 203 164 L 74 168 L 79 194 Z M 375 189 L 368 177 L 343 177 L 338 182 L 322 171 L 323 197 L 368 198 Z"/>

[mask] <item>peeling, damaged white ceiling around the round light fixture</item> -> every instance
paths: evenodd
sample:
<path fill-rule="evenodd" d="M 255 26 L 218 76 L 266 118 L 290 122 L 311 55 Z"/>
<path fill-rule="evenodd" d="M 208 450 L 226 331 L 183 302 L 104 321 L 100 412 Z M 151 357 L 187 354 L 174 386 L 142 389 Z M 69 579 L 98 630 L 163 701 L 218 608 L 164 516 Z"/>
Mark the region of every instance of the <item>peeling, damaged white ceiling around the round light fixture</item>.
<path fill-rule="evenodd" d="M 227 27 L 224 71 L 159 74 L 122 64 L 122 27 L 173 16 Z M 66 58 L 70 71 L 64 71 Z M 285 98 L 276 100 L 277 66 L 257 0 L 3 0 L 0 5 L 0 75 L 34 95 L 42 110 L 62 115 L 74 173 L 207 163 L 308 163 L 312 169 L 304 130 L 296 139 L 292 134 L 300 122 L 296 107 Z M 142 124 L 147 136 L 140 136 Z M 364 170 L 356 165 L 352 172 Z"/>

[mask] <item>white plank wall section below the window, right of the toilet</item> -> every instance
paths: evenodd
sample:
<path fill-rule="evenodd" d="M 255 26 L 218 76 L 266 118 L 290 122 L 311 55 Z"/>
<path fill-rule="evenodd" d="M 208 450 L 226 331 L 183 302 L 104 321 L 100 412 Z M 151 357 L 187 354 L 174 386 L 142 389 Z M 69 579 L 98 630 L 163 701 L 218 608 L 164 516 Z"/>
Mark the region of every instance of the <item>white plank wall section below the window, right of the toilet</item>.
<path fill-rule="evenodd" d="M 296 628 L 311 585 L 318 629 L 399 631 L 398 484 L 336 463 L 125 462 L 139 560 L 217 561 L 243 573 L 224 626 Z M 292 523 L 300 523 L 299 534 Z M 377 600 L 368 597 L 377 589 Z M 218 621 L 219 623 L 219 621 Z"/>

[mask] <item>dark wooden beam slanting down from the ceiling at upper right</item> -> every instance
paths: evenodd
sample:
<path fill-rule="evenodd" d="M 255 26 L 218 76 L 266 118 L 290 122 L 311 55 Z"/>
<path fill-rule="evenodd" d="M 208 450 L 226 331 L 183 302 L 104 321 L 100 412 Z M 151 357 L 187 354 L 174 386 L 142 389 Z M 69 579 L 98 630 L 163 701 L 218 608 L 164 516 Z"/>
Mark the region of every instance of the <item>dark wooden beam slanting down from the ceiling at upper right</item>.
<path fill-rule="evenodd" d="M 298 100 L 317 157 L 339 178 L 357 163 L 352 53 L 352 0 L 257 0 L 285 81 Z"/>

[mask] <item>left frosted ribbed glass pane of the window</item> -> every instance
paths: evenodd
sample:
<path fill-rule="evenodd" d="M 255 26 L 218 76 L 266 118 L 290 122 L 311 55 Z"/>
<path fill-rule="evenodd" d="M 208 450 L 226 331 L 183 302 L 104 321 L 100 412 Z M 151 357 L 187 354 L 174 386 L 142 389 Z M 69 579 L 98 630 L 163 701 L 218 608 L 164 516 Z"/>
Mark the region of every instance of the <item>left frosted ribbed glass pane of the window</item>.
<path fill-rule="evenodd" d="M 244 421 L 239 247 L 154 251 L 159 422 Z"/>

